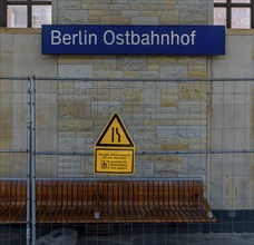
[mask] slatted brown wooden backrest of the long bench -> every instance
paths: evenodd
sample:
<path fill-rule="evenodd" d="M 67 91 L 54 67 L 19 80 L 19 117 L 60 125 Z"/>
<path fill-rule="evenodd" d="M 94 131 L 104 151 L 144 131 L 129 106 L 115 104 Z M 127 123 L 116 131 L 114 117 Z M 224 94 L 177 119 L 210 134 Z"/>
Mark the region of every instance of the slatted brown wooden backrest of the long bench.
<path fill-rule="evenodd" d="M 0 202 L 26 204 L 26 180 L 1 180 Z M 192 205 L 203 196 L 202 180 L 37 180 L 37 205 Z"/>

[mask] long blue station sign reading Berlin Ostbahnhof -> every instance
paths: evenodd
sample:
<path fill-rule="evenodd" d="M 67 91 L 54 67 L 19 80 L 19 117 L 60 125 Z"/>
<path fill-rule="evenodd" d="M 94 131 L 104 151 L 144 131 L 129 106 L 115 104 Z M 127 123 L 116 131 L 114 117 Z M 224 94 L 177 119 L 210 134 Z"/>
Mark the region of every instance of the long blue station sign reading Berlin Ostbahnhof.
<path fill-rule="evenodd" d="M 45 24 L 42 55 L 225 55 L 224 26 Z"/>

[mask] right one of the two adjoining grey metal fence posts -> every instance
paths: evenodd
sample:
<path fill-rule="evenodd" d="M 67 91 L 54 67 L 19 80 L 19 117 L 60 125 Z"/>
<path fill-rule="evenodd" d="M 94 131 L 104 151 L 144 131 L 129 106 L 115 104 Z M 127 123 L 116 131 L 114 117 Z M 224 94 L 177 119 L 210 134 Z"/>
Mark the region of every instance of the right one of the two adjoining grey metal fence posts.
<path fill-rule="evenodd" d="M 31 77 L 31 244 L 36 244 L 36 77 Z"/>

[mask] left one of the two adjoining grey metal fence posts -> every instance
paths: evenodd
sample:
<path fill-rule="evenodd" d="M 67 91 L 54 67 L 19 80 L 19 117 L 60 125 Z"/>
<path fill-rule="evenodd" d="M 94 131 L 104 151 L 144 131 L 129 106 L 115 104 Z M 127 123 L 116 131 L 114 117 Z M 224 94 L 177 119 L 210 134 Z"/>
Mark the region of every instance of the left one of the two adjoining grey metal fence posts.
<path fill-rule="evenodd" d="M 28 118 L 27 118 L 27 245 L 30 245 L 31 238 L 31 77 L 28 77 Z"/>

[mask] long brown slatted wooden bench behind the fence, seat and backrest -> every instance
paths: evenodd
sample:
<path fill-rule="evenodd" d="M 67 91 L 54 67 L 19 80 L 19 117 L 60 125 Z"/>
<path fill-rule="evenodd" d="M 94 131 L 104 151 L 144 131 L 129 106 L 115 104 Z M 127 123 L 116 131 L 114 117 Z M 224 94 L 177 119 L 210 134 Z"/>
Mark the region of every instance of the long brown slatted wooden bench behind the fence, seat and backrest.
<path fill-rule="evenodd" d="M 0 180 L 0 223 L 26 223 L 25 179 Z M 199 178 L 37 179 L 37 223 L 211 223 Z"/>

